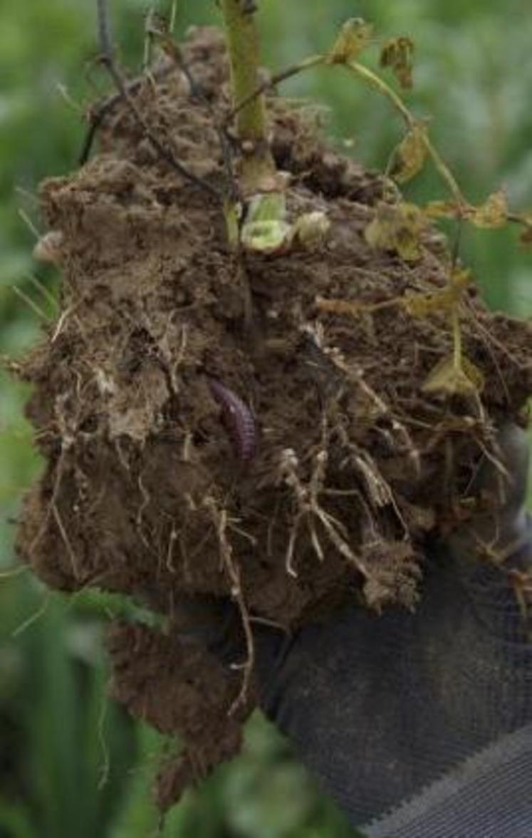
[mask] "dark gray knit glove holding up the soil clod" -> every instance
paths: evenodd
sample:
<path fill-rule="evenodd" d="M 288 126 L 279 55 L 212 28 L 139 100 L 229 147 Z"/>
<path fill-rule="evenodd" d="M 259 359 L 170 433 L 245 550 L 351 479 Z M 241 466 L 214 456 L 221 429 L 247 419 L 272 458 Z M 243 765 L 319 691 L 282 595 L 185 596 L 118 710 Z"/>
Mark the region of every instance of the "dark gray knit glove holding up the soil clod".
<path fill-rule="evenodd" d="M 351 607 L 290 642 L 257 634 L 261 705 L 370 838 L 532 835 L 523 432 L 501 447 L 502 515 L 434 546 L 416 613 Z M 472 561 L 480 542 L 504 565 Z"/>

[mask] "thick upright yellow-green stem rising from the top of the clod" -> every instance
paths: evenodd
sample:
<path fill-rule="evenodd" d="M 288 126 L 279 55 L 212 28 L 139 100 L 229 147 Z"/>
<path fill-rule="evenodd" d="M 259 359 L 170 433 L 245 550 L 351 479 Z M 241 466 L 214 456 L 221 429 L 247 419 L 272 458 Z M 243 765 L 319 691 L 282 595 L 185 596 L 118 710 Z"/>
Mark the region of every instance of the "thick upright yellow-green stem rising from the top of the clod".
<path fill-rule="evenodd" d="M 220 0 L 230 54 L 233 104 L 247 100 L 236 115 L 242 146 L 240 185 L 244 194 L 275 188 L 276 166 L 266 138 L 264 96 L 254 96 L 259 85 L 259 36 L 255 15 L 243 0 Z"/>

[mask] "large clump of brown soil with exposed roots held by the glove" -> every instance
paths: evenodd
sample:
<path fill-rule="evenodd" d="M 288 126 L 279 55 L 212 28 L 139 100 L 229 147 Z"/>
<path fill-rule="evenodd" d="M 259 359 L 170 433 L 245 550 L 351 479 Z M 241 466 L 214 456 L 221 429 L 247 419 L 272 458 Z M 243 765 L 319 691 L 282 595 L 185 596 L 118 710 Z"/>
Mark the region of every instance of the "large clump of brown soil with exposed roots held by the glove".
<path fill-rule="evenodd" d="M 178 70 L 146 80 L 135 101 L 221 188 L 220 35 L 198 30 L 185 52 L 209 105 Z M 467 487 L 478 458 L 496 454 L 493 428 L 519 421 L 532 392 L 529 328 L 473 292 L 461 325 L 481 399 L 421 389 L 452 351 L 444 313 L 318 310 L 317 297 L 379 303 L 444 287 L 449 256 L 434 230 L 416 261 L 370 248 L 364 228 L 377 201 L 393 200 L 389 184 L 326 147 L 306 111 L 272 97 L 269 113 L 292 215 L 323 210 L 332 222 L 314 249 L 239 268 L 220 204 L 159 158 L 123 102 L 100 155 L 42 188 L 49 227 L 64 234 L 63 313 L 23 366 L 47 468 L 18 547 L 51 587 L 123 592 L 169 615 L 164 632 L 116 625 L 109 644 L 116 695 L 184 738 L 159 778 L 163 808 L 235 753 L 253 703 L 248 692 L 235 706 L 241 670 L 227 675 L 198 642 L 176 641 L 183 596 L 232 597 L 246 627 L 287 629 L 346 597 L 414 607 L 427 533 L 477 502 Z M 251 458 L 213 380 L 253 412 Z"/>

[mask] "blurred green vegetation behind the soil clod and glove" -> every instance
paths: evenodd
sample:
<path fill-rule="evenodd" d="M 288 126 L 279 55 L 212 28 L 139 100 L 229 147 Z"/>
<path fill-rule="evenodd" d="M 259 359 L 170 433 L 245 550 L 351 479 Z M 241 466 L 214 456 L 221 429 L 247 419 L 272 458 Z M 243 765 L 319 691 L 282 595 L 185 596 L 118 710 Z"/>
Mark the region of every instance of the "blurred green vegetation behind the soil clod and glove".
<path fill-rule="evenodd" d="M 416 41 L 416 86 L 408 98 L 433 117 L 432 131 L 466 194 L 482 199 L 505 184 L 515 209 L 532 207 L 532 16 L 529 0 L 260 0 L 265 63 L 280 67 L 326 49 L 343 19 L 361 15 L 380 34 Z M 147 0 L 110 0 L 121 57 L 142 56 Z M 31 259 L 40 225 L 39 180 L 75 168 L 80 111 L 108 89 L 87 75 L 96 54 L 93 0 L 0 0 L 0 353 L 24 352 L 41 316 L 17 287 L 54 317 L 30 277 L 53 293 L 59 277 Z M 161 3 L 161 11 L 164 4 Z M 180 0 L 178 30 L 217 19 L 214 0 Z M 60 91 L 67 91 L 70 104 Z M 385 101 L 347 76 L 316 71 L 292 81 L 291 96 L 329 109 L 333 142 L 383 168 L 401 126 Z M 408 189 L 442 197 L 427 171 Z M 488 303 L 532 314 L 532 256 L 514 230 L 466 230 L 464 259 Z M 0 574 L 13 567 L 18 499 L 39 468 L 23 420 L 26 391 L 0 373 Z M 148 787 L 164 747 L 106 701 L 101 633 L 126 606 L 93 593 L 49 594 L 21 572 L 0 576 L 1 838 L 145 838 L 157 834 Z M 364 719 L 361 720 L 364 724 Z M 352 834 L 323 800 L 287 744 L 261 717 L 245 753 L 173 810 L 163 835 L 179 838 L 341 838 Z"/>

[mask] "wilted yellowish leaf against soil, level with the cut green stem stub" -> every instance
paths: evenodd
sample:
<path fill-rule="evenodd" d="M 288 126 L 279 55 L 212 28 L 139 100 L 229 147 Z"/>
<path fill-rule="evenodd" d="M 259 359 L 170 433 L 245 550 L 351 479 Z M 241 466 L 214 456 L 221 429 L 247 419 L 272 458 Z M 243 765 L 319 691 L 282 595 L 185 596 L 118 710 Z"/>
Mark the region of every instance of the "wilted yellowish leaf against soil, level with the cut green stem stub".
<path fill-rule="evenodd" d="M 374 219 L 364 230 L 369 246 L 395 251 L 405 261 L 421 257 L 420 236 L 426 219 L 415 204 L 377 204 Z"/>

